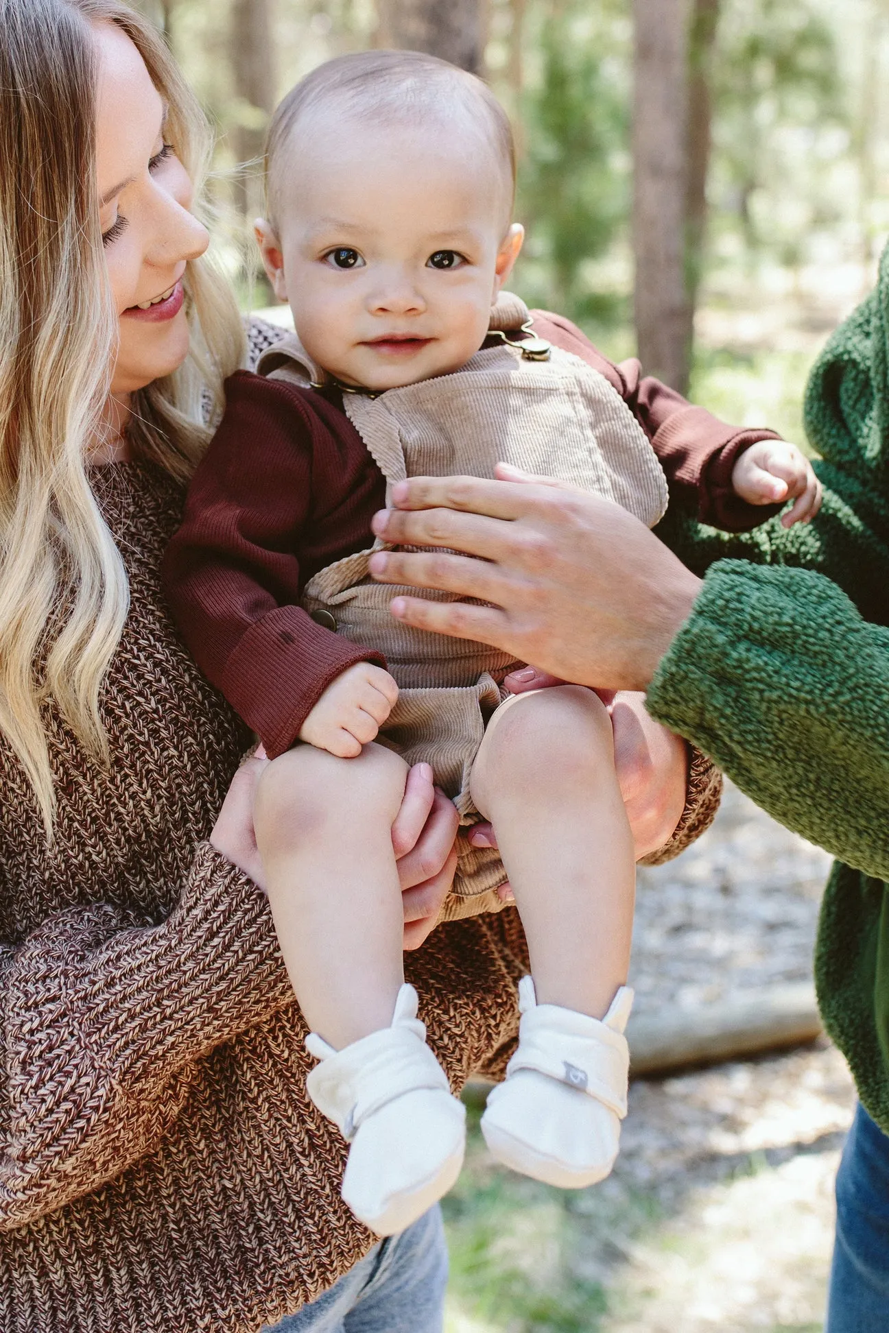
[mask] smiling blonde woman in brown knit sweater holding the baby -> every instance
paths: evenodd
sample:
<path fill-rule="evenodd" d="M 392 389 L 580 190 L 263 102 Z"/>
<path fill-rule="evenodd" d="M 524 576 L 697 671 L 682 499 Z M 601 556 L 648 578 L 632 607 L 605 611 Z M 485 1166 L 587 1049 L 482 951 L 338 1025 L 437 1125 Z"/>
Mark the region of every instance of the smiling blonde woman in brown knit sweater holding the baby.
<path fill-rule="evenodd" d="M 305 1096 L 260 886 L 261 760 L 239 770 L 251 738 L 159 592 L 204 408 L 243 355 L 191 212 L 205 147 L 132 11 L 0 0 L 0 1328 L 433 1333 L 440 1217 L 371 1250 L 340 1200 L 345 1145 Z M 618 748 L 650 850 L 685 750 L 634 716 Z M 454 828 L 412 774 L 409 946 Z M 415 956 L 454 1085 L 505 1053 L 524 968 L 510 912 Z"/>

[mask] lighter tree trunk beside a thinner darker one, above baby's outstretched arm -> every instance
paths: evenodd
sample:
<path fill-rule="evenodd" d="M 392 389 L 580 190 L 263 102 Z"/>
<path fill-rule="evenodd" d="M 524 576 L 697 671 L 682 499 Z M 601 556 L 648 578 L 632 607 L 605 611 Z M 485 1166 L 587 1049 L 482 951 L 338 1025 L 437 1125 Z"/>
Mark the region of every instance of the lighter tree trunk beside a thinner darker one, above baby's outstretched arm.
<path fill-rule="evenodd" d="M 646 373 L 684 393 L 689 0 L 633 0 L 636 336 Z"/>

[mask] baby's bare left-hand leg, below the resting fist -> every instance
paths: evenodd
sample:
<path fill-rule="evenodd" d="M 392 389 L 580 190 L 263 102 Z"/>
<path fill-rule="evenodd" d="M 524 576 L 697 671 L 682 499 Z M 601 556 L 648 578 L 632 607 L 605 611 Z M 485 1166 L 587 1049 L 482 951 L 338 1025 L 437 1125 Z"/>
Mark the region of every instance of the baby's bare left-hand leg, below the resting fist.
<path fill-rule="evenodd" d="M 256 841 L 305 1021 L 336 1049 L 392 1022 L 404 982 L 392 824 L 408 766 L 381 745 L 281 754 L 256 793 Z"/>

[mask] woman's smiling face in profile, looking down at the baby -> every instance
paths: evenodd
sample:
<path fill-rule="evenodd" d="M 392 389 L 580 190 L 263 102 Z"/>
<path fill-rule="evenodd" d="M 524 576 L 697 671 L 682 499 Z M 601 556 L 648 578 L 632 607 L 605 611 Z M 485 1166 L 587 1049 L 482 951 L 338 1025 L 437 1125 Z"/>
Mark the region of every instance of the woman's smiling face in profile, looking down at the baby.
<path fill-rule="evenodd" d="M 97 172 L 108 276 L 120 316 L 112 393 L 169 375 L 188 353 L 181 277 L 207 249 L 192 183 L 164 139 L 164 103 L 139 51 L 113 24 L 99 43 Z"/>

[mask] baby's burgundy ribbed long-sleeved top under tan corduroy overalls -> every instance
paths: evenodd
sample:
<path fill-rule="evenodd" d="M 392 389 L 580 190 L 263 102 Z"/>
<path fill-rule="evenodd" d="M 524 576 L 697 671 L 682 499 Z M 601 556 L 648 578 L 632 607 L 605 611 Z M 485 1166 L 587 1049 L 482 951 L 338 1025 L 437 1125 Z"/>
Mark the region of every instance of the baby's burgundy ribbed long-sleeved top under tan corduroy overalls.
<path fill-rule="evenodd" d="M 642 379 L 638 361 L 613 365 L 558 316 L 534 312 L 534 331 L 610 381 L 652 440 L 674 499 L 690 499 L 729 529 L 774 512 L 730 491 L 738 453 L 773 432 L 718 421 Z M 348 666 L 385 665 L 373 647 L 339 637 L 299 605 L 315 573 L 372 544 L 385 483 L 336 392 L 240 372 L 225 401 L 165 557 L 164 587 L 195 660 L 273 758 Z"/>

